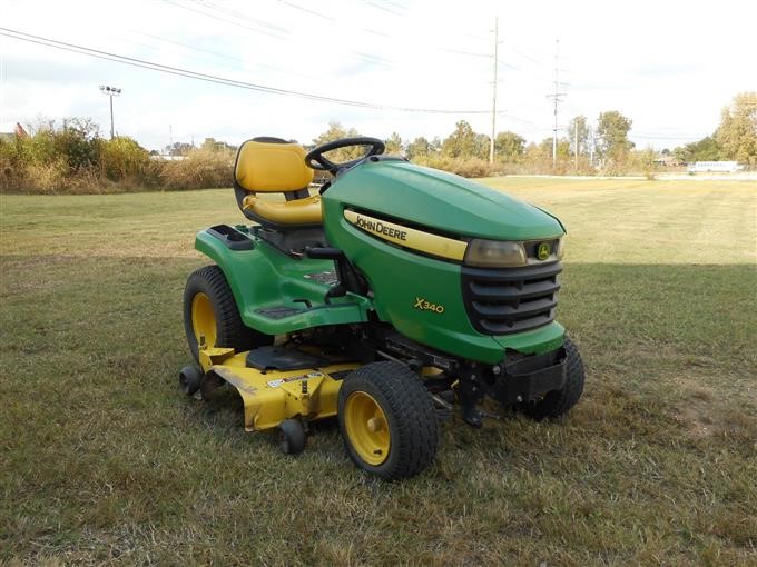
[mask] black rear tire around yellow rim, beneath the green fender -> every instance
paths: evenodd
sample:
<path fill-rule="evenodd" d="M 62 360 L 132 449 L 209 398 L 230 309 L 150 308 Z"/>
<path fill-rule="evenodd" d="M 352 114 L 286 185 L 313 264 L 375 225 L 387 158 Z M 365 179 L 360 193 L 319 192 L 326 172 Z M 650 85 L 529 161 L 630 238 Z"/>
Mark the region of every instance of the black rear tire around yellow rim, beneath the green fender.
<path fill-rule="evenodd" d="M 199 294 L 209 299 L 215 318 L 215 347 L 232 347 L 237 351 L 249 350 L 264 345 L 273 345 L 274 337 L 264 335 L 242 322 L 232 288 L 218 266 L 206 266 L 194 271 L 184 289 L 184 330 L 189 350 L 199 360 L 199 347 L 193 325 L 193 301 Z"/>

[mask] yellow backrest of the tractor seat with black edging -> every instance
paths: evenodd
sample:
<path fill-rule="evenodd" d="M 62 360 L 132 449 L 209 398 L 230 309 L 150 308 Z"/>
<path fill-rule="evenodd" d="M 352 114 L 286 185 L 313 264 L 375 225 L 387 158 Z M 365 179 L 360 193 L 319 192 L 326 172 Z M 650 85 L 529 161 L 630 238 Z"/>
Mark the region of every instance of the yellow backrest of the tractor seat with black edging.
<path fill-rule="evenodd" d="M 239 147 L 234 167 L 236 183 L 250 192 L 293 192 L 307 189 L 313 170 L 302 146 L 278 138 L 255 138 Z"/>

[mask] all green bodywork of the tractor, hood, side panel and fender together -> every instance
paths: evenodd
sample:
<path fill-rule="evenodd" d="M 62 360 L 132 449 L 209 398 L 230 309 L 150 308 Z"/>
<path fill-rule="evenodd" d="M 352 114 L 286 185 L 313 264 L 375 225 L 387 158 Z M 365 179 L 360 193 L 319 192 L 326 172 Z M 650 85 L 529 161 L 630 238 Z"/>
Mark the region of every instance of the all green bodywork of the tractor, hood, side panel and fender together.
<path fill-rule="evenodd" d="M 562 345 L 564 329 L 558 322 L 505 336 L 476 331 L 463 304 L 459 262 L 396 247 L 344 218 L 344 210 L 351 208 L 462 239 L 540 240 L 564 233 L 560 221 L 548 212 L 461 177 L 404 161 L 365 161 L 345 171 L 323 193 L 322 207 L 328 243 L 341 249 L 367 279 L 371 297 L 347 294 L 326 305 L 328 285 L 305 276 L 333 270 L 332 261 L 294 259 L 252 235 L 254 249 L 230 250 L 203 231 L 196 248 L 224 270 L 245 325 L 283 335 L 323 325 L 366 322 L 375 310 L 381 321 L 412 340 L 486 364 L 501 362 L 504 349 L 542 354 Z M 305 309 L 296 299 L 308 300 L 313 308 Z M 272 307 L 298 312 L 271 319 L 258 311 Z"/>

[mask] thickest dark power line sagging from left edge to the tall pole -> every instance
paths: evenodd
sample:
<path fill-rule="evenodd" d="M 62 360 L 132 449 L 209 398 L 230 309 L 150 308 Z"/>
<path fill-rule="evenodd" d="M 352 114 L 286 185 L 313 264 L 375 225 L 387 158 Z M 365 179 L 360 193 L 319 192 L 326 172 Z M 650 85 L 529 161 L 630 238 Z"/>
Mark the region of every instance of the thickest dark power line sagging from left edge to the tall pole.
<path fill-rule="evenodd" d="M 79 53 L 88 57 L 94 57 L 97 59 L 105 59 L 108 61 L 114 61 L 122 64 L 128 64 L 131 67 L 139 67 L 142 69 L 148 69 L 151 71 L 158 71 L 168 74 L 175 74 L 178 77 L 186 77 L 189 79 L 196 79 L 205 82 L 213 82 L 216 84 L 224 84 L 227 87 L 236 87 L 240 89 L 254 90 L 258 92 L 266 92 L 269 94 L 289 96 L 303 98 L 306 100 L 314 100 L 318 102 L 331 102 L 334 105 L 358 107 L 358 108 L 370 108 L 374 110 L 394 110 L 400 112 L 417 112 L 427 115 L 488 115 L 490 110 L 452 110 L 452 109 L 436 109 L 436 108 L 415 108 L 415 107 L 395 107 L 390 105 L 378 105 L 374 102 L 363 102 L 357 100 L 338 99 L 334 97 L 324 97 L 321 94 L 314 94 L 311 92 L 302 92 L 288 89 L 282 89 L 278 87 L 269 87 L 266 84 L 257 84 L 246 81 L 237 81 L 235 79 L 228 79 L 224 77 L 218 77 L 215 74 L 200 73 L 197 71 L 191 71 L 188 69 L 181 69 L 179 67 L 170 67 L 161 63 L 155 63 L 144 59 L 137 59 L 127 56 L 119 56 L 117 53 L 110 53 L 108 51 L 101 51 L 99 49 L 87 48 L 82 46 L 76 46 L 73 43 L 67 43 L 63 41 L 58 41 L 49 38 L 43 38 L 40 36 L 33 36 L 31 33 L 26 33 L 22 31 L 11 30 L 8 28 L 0 28 L 0 36 L 6 36 L 8 38 L 17 39 L 20 41 L 27 41 L 30 43 L 37 43 L 40 46 L 51 47 L 55 49 L 70 51 L 73 53 Z"/>

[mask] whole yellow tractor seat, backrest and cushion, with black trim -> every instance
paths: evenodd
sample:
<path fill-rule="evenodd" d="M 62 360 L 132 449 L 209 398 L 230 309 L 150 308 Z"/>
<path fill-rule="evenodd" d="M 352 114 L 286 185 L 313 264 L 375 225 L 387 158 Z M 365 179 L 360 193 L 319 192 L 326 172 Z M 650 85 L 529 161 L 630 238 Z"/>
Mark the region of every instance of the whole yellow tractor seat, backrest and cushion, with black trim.
<path fill-rule="evenodd" d="M 305 165 L 305 150 L 277 138 L 255 138 L 242 145 L 234 167 L 234 188 L 245 216 L 262 225 L 286 228 L 321 225 L 321 196 L 307 187 L 313 170 Z M 273 201 L 258 193 L 284 193 Z"/>

